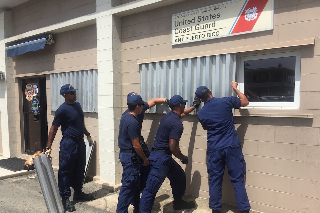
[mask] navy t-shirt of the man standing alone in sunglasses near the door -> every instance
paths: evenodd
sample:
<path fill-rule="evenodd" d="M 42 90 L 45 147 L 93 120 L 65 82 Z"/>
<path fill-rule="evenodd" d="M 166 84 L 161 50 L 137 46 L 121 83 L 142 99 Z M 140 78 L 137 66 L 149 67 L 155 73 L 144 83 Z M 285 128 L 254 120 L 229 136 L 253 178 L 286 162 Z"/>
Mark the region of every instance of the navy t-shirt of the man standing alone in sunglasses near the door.
<path fill-rule="evenodd" d="M 52 125 L 60 126 L 63 136 L 83 138 L 84 114 L 79 102 L 67 104 L 63 102 L 57 109 Z"/>

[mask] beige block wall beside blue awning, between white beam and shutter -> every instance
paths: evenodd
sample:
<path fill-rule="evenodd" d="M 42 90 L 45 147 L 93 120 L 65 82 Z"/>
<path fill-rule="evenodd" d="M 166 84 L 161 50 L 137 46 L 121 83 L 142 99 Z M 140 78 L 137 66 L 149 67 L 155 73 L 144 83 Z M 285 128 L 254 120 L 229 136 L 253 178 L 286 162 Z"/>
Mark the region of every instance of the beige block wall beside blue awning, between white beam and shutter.
<path fill-rule="evenodd" d="M 12 57 L 15 75 L 39 75 L 97 68 L 96 25 L 53 35 L 44 49 Z"/>

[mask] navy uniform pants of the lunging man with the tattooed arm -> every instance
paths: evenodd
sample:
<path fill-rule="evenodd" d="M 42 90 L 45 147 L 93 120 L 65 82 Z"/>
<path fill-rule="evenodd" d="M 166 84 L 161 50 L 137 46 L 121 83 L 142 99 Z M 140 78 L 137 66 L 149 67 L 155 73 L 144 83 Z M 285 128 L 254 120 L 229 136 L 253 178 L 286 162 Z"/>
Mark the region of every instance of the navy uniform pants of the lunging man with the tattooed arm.
<path fill-rule="evenodd" d="M 171 155 L 152 151 L 148 160 L 151 164 L 151 171 L 141 195 L 140 213 L 151 212 L 156 193 L 165 177 L 168 177 L 170 181 L 173 197 L 182 197 L 186 192 L 186 173 Z"/>

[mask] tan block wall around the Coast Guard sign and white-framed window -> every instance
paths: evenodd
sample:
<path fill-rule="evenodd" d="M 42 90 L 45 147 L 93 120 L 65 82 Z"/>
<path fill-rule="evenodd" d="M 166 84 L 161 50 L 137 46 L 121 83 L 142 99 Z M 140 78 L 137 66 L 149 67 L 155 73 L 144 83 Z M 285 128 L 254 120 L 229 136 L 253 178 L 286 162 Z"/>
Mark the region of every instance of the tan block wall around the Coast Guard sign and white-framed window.
<path fill-rule="evenodd" d="M 313 118 L 235 116 L 235 127 L 247 163 L 246 189 L 252 209 L 260 212 L 306 212 L 306 209 L 308 212 L 319 212 L 320 88 L 317 79 L 320 77 L 320 28 L 315 26 L 320 24 L 320 2 L 275 0 L 272 31 L 172 46 L 172 14 L 213 4 L 217 1 L 184 1 L 122 17 L 123 111 L 128 92 L 140 91 L 137 60 L 315 38 L 315 45 L 271 50 L 301 51 L 300 109 L 290 111 L 308 112 L 313 114 Z M 270 50 L 241 54 L 260 52 Z M 282 109 L 258 111 L 284 112 Z M 148 138 L 150 147 L 162 116 L 145 115 L 142 135 Z M 183 126 L 180 148 L 189 157 L 188 165 L 182 165 L 187 176 L 186 193 L 208 198 L 206 132 L 196 115 L 184 118 Z M 162 187 L 170 188 L 168 180 Z M 222 201 L 236 204 L 227 174 Z"/>

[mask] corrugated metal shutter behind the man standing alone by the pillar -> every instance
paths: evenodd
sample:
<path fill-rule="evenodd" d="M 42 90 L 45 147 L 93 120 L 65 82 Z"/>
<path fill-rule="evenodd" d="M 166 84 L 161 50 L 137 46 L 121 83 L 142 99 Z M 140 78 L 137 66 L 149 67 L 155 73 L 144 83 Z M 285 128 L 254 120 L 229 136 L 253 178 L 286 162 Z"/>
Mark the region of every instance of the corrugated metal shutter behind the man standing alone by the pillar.
<path fill-rule="evenodd" d="M 76 91 L 77 101 L 84 112 L 98 112 L 98 70 L 81 70 L 50 74 L 51 110 L 56 111 L 65 101 L 60 95 L 62 85 L 70 83 Z"/>

